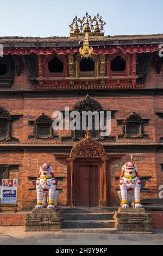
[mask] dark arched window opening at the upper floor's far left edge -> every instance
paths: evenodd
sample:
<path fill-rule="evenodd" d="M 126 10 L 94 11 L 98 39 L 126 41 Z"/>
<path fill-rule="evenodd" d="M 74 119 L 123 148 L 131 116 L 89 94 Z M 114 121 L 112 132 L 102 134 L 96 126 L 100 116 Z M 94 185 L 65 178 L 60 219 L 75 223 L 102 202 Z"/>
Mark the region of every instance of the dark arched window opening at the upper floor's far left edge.
<path fill-rule="evenodd" d="M 0 57 L 0 88 L 10 88 L 14 82 L 15 64 L 13 57 L 8 56 Z"/>

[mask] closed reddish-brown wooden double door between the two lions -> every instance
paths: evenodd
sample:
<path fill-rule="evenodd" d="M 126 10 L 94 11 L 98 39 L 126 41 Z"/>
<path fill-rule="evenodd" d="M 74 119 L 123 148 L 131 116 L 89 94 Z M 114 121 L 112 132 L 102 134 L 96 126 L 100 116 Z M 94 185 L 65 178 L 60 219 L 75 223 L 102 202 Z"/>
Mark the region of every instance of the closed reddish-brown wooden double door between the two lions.
<path fill-rule="evenodd" d="M 99 206 L 99 164 L 76 164 L 76 206 Z"/>

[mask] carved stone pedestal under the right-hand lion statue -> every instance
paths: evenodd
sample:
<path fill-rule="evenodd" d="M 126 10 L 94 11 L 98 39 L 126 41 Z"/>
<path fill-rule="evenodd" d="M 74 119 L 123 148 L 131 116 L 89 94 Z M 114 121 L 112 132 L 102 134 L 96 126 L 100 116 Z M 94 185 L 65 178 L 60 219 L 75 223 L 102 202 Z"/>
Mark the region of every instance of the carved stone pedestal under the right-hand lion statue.
<path fill-rule="evenodd" d="M 153 232 L 151 214 L 145 209 L 122 209 L 115 212 L 116 230 L 124 232 Z"/>

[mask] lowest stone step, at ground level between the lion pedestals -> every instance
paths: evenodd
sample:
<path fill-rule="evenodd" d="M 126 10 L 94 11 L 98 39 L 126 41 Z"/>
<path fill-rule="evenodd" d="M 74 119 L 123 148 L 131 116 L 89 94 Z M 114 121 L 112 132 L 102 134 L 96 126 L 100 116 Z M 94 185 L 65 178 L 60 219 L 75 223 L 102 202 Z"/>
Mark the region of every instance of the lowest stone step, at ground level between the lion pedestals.
<path fill-rule="evenodd" d="M 116 233 L 115 228 L 63 228 L 62 233 Z"/>

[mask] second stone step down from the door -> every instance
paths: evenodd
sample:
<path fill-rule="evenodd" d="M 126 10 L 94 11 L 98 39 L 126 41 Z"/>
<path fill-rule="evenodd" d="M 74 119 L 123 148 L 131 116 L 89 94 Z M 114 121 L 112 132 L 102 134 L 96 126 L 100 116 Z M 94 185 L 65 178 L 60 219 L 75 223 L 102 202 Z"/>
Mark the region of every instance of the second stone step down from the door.
<path fill-rule="evenodd" d="M 68 221 L 76 220 L 113 220 L 114 212 L 85 212 L 85 213 L 66 213 L 62 215 Z"/>

